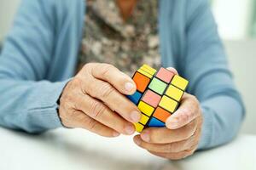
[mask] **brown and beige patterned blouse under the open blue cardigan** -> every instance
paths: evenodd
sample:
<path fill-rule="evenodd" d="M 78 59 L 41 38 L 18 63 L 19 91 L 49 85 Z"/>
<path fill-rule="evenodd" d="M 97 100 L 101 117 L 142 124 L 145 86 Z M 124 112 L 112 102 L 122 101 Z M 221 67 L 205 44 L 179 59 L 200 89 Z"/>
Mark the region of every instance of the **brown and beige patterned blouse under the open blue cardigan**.
<path fill-rule="evenodd" d="M 79 68 L 108 63 L 132 76 L 143 64 L 160 67 L 157 0 L 138 0 L 126 21 L 115 0 L 87 1 L 84 22 Z"/>

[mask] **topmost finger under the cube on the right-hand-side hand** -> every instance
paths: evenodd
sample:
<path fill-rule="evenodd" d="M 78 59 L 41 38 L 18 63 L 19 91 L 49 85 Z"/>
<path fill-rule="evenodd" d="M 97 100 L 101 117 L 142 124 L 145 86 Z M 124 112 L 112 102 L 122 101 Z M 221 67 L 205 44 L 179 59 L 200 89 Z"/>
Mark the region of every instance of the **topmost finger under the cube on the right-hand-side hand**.
<path fill-rule="evenodd" d="M 179 129 L 168 129 L 165 127 L 148 127 L 140 134 L 141 138 L 148 143 L 169 144 L 189 139 L 196 130 L 196 121 Z"/>

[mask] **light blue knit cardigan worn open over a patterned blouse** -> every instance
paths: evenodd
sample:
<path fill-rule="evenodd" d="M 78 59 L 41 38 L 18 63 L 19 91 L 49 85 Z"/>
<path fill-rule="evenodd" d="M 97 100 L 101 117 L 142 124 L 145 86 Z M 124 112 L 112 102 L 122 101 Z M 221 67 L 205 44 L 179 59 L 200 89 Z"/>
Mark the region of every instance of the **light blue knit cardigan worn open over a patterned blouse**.
<path fill-rule="evenodd" d="M 0 55 L 1 126 L 61 127 L 56 101 L 74 76 L 84 7 L 84 0 L 22 0 Z M 244 109 L 207 0 L 160 0 L 159 26 L 162 65 L 177 68 L 201 102 L 199 149 L 230 141 Z"/>

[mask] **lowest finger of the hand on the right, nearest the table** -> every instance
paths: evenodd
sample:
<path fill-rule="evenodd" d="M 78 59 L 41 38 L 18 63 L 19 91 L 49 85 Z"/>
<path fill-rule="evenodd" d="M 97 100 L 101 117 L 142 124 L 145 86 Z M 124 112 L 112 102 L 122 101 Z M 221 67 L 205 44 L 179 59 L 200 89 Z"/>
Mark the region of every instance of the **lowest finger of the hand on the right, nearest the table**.
<path fill-rule="evenodd" d="M 160 153 L 160 152 L 154 152 L 154 151 L 150 151 L 150 150 L 148 150 L 148 152 L 153 154 L 154 156 L 160 156 L 160 157 L 170 159 L 170 160 L 180 160 L 180 159 L 183 159 L 183 158 L 193 155 L 195 152 L 195 148 L 196 147 L 193 146 L 189 150 L 183 150 L 180 152 L 173 152 L 173 153 Z"/>

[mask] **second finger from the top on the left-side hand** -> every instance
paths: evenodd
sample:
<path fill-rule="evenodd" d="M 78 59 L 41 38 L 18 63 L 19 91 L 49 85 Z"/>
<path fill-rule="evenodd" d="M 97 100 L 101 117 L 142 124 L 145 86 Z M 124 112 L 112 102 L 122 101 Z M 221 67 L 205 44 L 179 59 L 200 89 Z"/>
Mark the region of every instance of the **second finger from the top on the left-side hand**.
<path fill-rule="evenodd" d="M 120 94 L 108 82 L 88 76 L 83 84 L 84 94 L 89 94 L 93 98 L 102 100 L 112 111 L 117 112 L 129 122 L 140 121 L 141 113 L 137 106 L 131 103 L 123 94 Z"/>

